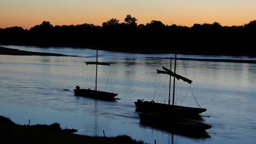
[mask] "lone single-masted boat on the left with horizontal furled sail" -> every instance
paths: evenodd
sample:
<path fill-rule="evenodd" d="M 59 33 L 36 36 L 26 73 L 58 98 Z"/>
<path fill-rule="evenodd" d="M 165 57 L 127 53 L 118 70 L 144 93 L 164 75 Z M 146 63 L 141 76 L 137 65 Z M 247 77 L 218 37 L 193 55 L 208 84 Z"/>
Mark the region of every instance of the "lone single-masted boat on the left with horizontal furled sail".
<path fill-rule="evenodd" d="M 112 92 L 103 92 L 97 90 L 97 69 L 98 65 L 105 65 L 109 66 L 110 63 L 107 62 L 98 62 L 98 50 L 96 51 L 96 62 L 85 62 L 86 65 L 88 64 L 95 64 L 96 65 L 96 80 L 95 80 L 95 90 L 88 89 L 80 89 L 79 86 L 76 86 L 76 89 L 74 89 L 75 95 L 77 96 L 86 96 L 86 97 L 92 97 L 97 99 L 104 99 L 104 100 L 113 100 L 115 96 L 118 94 L 112 93 Z"/>

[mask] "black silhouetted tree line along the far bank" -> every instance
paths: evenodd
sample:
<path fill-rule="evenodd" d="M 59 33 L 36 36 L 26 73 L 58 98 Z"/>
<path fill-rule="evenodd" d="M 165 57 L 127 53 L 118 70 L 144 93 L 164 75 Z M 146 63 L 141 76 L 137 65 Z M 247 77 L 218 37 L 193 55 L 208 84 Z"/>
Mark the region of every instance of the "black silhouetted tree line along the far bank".
<path fill-rule="evenodd" d="M 139 25 L 136 22 L 130 14 L 124 22 L 111 18 L 102 26 L 86 23 L 52 26 L 43 21 L 30 30 L 18 26 L 0 28 L 0 44 L 169 53 L 177 42 L 183 54 L 256 55 L 256 20 L 243 26 L 221 26 L 214 22 L 192 27 L 165 25 L 157 20 Z"/>

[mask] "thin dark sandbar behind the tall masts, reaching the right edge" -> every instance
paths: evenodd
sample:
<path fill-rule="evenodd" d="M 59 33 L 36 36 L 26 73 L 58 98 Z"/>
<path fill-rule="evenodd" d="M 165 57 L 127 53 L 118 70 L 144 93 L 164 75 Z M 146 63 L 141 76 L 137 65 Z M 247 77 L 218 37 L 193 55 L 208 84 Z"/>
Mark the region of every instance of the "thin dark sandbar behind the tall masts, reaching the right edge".
<path fill-rule="evenodd" d="M 146 57 L 154 59 L 170 59 L 170 58 L 160 58 L 160 57 Z M 174 58 L 172 58 L 174 59 Z M 256 60 L 234 60 L 234 59 L 206 59 L 206 58 L 176 58 L 177 60 L 192 60 L 192 61 L 204 61 L 204 62 L 234 62 L 234 63 L 247 63 L 256 64 Z"/>

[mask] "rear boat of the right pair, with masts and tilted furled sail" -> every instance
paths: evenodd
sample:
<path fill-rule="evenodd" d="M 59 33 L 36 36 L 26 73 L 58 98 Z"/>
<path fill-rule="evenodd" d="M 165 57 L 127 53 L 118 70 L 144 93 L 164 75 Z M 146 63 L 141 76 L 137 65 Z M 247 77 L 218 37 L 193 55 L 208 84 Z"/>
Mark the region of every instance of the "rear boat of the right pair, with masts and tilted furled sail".
<path fill-rule="evenodd" d="M 139 112 L 148 111 L 148 112 L 164 112 L 166 115 L 170 116 L 180 116 L 183 118 L 200 118 L 200 113 L 205 112 L 205 108 L 193 108 L 193 107 L 185 107 L 185 106 L 178 106 L 174 105 L 174 93 L 175 93 L 175 78 L 177 80 L 183 80 L 184 82 L 188 82 L 188 84 L 192 83 L 192 80 L 189 80 L 188 78 L 184 78 L 183 76 L 180 76 L 176 74 L 176 54 L 175 54 L 175 62 L 174 62 L 174 72 L 172 72 L 172 58 L 170 58 L 170 70 L 168 68 L 165 68 L 162 66 L 163 70 L 157 70 L 158 74 L 168 74 L 170 75 L 170 81 L 169 81 L 169 100 L 168 104 L 163 103 L 157 103 L 153 100 L 151 102 L 144 101 L 138 99 L 137 102 L 134 102 L 136 106 L 136 110 Z M 173 82 L 173 96 L 172 96 L 172 105 L 170 105 L 170 84 L 171 84 L 171 76 L 174 77 Z M 199 106 L 199 104 L 198 104 Z M 199 106 L 200 107 L 200 106 Z"/>

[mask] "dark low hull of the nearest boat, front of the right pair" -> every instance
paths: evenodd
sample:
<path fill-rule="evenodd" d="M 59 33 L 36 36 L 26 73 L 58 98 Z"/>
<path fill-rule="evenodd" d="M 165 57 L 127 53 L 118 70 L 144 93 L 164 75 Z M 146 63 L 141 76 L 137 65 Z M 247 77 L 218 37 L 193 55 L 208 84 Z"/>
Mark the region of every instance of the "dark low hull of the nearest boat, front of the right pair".
<path fill-rule="evenodd" d="M 209 124 L 197 122 L 194 120 L 188 120 L 178 117 L 167 117 L 164 114 L 156 113 L 139 113 L 140 121 L 151 124 L 154 126 L 160 126 L 172 131 L 180 132 L 205 132 L 205 130 L 212 128 Z"/>

